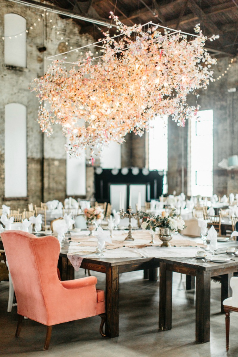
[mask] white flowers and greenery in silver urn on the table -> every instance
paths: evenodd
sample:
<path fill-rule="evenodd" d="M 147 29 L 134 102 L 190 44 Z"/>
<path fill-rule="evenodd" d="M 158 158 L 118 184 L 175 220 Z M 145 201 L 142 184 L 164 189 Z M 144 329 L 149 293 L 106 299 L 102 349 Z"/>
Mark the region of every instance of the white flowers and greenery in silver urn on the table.
<path fill-rule="evenodd" d="M 170 247 L 168 242 L 173 237 L 172 232 L 185 228 L 185 222 L 180 216 L 176 215 L 175 208 L 169 213 L 162 211 L 161 215 L 153 217 L 149 217 L 147 213 L 142 213 L 141 218 L 143 219 L 142 228 L 146 230 L 152 229 L 154 232 L 158 228 L 159 239 L 163 242 L 161 247 Z"/>

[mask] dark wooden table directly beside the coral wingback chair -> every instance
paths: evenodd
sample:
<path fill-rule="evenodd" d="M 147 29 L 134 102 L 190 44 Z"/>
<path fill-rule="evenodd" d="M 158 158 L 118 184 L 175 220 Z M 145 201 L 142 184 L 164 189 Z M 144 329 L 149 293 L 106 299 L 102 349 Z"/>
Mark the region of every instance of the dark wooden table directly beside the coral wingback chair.
<path fill-rule="evenodd" d="M 81 268 L 106 274 L 106 335 L 119 336 L 119 274 L 149 270 L 149 279 L 157 280 L 159 263 L 154 258 L 83 258 Z M 74 268 L 67 259 L 67 249 L 61 250 L 59 269 L 62 280 L 74 279 Z"/>

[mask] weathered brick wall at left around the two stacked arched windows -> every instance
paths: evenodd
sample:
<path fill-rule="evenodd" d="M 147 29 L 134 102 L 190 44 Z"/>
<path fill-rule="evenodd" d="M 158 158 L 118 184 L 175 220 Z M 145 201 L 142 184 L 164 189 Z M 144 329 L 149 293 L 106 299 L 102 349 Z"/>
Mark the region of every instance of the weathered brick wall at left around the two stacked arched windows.
<path fill-rule="evenodd" d="M 47 56 L 58 54 L 62 49 L 77 48 L 93 42 L 87 34 L 79 35 L 80 27 L 72 19 L 61 19 L 50 13 L 47 23 L 42 19 L 43 10 L 18 5 L 12 2 L 1 2 L 0 33 L 4 33 L 4 14 L 14 12 L 25 17 L 27 28 L 36 23 L 27 34 L 27 67 L 10 69 L 4 65 L 4 56 L 0 57 L 0 206 L 5 203 L 11 208 L 25 208 L 28 203 L 39 205 L 52 199 L 64 201 L 66 197 L 66 153 L 65 138 L 58 126 L 49 139 L 42 134 L 37 123 L 39 100 L 35 92 L 29 90 L 31 80 L 42 76 L 50 61 Z M 50 20 L 52 20 L 50 22 Z M 54 26 L 54 27 L 53 27 Z M 61 39 L 63 37 L 63 40 Z M 67 44 L 66 44 L 67 42 Z M 45 52 L 38 48 L 45 46 Z M 4 41 L 0 41 L 0 53 L 4 53 Z M 76 60 L 79 53 L 68 55 L 69 60 Z M 19 102 L 27 107 L 27 197 L 24 200 L 4 200 L 4 125 L 5 105 Z M 89 182 L 93 187 L 89 175 Z M 89 189 L 91 190 L 91 188 Z M 91 192 L 89 192 L 91 194 Z"/>

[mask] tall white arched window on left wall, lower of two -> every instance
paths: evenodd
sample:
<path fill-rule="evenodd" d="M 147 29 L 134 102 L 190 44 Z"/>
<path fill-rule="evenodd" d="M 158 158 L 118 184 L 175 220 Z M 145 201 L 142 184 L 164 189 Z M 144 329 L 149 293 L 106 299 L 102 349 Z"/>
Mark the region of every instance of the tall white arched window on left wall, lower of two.
<path fill-rule="evenodd" d="M 26 107 L 5 106 L 5 197 L 27 196 Z"/>

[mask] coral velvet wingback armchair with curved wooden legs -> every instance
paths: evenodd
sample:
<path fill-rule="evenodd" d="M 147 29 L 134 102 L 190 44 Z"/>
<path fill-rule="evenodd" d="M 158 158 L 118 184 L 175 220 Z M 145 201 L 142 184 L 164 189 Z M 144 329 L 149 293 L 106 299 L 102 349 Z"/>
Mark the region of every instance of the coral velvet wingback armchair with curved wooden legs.
<path fill-rule="evenodd" d="M 1 233 L 17 300 L 19 336 L 22 318 L 47 326 L 44 350 L 50 343 L 52 325 L 99 315 L 100 333 L 106 320 L 103 290 L 96 290 L 97 278 L 60 281 L 57 262 L 60 243 L 53 236 L 36 237 L 22 231 Z"/>

